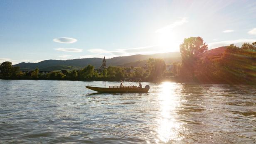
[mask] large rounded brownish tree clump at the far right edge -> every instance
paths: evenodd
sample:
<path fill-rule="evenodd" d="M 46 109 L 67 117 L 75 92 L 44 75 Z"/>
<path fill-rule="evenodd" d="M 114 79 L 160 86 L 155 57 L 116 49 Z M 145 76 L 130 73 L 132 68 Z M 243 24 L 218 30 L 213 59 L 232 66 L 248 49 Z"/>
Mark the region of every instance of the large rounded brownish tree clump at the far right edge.
<path fill-rule="evenodd" d="M 253 44 L 245 43 L 241 48 L 234 44 L 227 47 L 220 61 L 222 75 L 226 81 L 256 82 L 256 51 Z"/>

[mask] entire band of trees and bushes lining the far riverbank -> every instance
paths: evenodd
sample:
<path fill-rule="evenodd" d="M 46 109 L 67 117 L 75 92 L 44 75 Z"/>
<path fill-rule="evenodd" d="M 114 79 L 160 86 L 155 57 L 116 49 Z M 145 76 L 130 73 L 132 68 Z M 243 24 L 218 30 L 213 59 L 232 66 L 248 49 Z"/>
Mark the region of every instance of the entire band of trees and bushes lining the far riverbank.
<path fill-rule="evenodd" d="M 249 84 L 256 85 L 256 42 L 241 47 L 231 44 L 224 54 L 204 56 L 208 46 L 201 37 L 185 38 L 180 44 L 181 62 L 166 69 L 162 59 L 148 59 L 147 68 L 108 66 L 103 70 L 88 65 L 80 70 L 39 73 L 39 69 L 22 72 L 5 61 L 0 64 L 0 79 L 120 81 L 123 78 L 142 78 L 143 82 L 172 81 L 177 83 Z"/>

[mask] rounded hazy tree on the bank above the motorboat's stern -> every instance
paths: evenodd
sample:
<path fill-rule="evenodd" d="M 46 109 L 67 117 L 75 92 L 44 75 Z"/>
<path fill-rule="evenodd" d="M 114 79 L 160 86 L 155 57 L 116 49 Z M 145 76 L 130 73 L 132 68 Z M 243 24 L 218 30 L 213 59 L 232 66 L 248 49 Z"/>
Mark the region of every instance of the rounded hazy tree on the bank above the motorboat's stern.
<path fill-rule="evenodd" d="M 162 76 L 165 71 L 165 61 L 163 59 L 152 59 L 148 60 L 149 78 L 155 80 Z"/>

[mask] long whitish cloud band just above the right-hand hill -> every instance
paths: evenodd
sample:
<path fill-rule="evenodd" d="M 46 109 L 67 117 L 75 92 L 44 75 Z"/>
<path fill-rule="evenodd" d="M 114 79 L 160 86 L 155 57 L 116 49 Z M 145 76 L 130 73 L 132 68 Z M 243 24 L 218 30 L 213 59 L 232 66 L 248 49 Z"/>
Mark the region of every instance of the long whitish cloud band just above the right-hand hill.
<path fill-rule="evenodd" d="M 228 41 L 217 41 L 208 44 L 209 49 L 217 48 L 220 46 L 228 46 L 229 44 L 235 44 L 237 46 L 241 46 L 244 43 L 252 43 L 256 41 L 256 39 L 236 39 L 236 40 L 228 40 Z"/>

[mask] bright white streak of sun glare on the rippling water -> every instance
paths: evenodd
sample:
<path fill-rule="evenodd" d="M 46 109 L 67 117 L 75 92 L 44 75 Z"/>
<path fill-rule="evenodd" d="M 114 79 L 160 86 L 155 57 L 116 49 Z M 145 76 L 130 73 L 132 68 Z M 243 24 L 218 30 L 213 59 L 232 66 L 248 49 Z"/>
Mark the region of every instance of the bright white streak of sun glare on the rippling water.
<path fill-rule="evenodd" d="M 162 83 L 159 93 L 160 117 L 158 119 L 158 139 L 156 143 L 168 142 L 170 140 L 180 141 L 184 137 L 180 136 L 182 122 L 175 119 L 176 108 L 180 106 L 180 95 L 175 94 L 176 83 Z"/>

